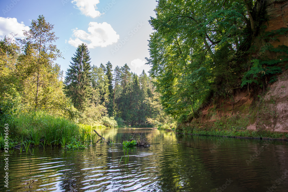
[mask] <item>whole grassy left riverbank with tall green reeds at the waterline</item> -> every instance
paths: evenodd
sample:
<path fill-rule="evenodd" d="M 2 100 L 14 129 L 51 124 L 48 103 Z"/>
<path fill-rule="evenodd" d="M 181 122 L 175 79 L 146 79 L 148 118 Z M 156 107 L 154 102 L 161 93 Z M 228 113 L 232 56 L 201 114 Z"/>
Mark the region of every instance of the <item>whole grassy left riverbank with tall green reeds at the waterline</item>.
<path fill-rule="evenodd" d="M 58 146 L 69 144 L 91 145 L 96 143 L 97 135 L 93 132 L 96 127 L 77 124 L 63 117 L 52 116 L 43 111 L 20 113 L 6 118 L 9 132 L 9 147 L 18 144 L 31 143 L 34 146 Z M 0 131 L 0 147 L 5 146 L 4 129 Z M 98 138 L 99 139 L 99 138 Z"/>

